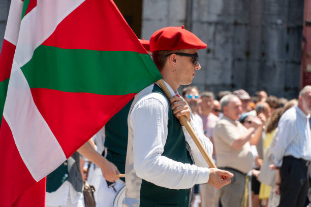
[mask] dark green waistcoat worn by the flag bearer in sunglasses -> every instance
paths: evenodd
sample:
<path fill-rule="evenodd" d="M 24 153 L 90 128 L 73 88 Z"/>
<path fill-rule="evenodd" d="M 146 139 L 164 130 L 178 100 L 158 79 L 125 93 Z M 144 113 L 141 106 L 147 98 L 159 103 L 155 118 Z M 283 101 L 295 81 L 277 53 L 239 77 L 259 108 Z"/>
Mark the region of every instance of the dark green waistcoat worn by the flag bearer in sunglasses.
<path fill-rule="evenodd" d="M 156 84 L 154 84 L 152 92 L 157 92 L 165 96 L 161 88 Z M 167 100 L 169 102 L 168 98 Z M 181 125 L 178 119 L 174 116 L 170 104 L 168 115 L 168 135 L 162 155 L 177 162 L 192 164 L 191 156 L 186 149 L 186 142 Z M 189 204 L 189 196 L 190 189 L 168 189 L 142 180 L 140 189 L 140 206 L 186 207 Z"/>

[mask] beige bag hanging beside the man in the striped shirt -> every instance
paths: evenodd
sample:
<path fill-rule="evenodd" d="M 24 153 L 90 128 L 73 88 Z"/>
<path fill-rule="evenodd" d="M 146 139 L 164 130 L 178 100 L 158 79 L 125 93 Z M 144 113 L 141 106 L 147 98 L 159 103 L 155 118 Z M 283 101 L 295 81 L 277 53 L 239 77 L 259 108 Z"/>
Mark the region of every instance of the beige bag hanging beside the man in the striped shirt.
<path fill-rule="evenodd" d="M 270 164 L 273 164 L 271 159 L 272 148 L 268 147 L 265 159 L 260 167 L 260 174 L 258 180 L 268 186 L 273 186 L 275 183 L 275 170 L 269 168 Z"/>

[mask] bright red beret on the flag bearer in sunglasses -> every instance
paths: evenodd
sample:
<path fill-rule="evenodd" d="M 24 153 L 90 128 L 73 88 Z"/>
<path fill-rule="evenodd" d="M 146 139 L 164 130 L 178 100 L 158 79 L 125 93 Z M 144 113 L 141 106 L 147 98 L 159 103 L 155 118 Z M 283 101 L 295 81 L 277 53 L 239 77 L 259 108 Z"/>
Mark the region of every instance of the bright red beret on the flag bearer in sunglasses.
<path fill-rule="evenodd" d="M 203 43 L 194 33 L 184 29 L 183 26 L 168 26 L 155 31 L 150 38 L 150 51 L 204 49 Z"/>

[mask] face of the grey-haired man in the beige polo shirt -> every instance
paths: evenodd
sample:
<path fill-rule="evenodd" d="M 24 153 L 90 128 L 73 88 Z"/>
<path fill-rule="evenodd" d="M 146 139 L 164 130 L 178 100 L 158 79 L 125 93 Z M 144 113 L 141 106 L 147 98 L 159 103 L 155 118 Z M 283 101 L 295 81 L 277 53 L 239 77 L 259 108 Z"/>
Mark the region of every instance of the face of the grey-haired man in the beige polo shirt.
<path fill-rule="evenodd" d="M 233 97 L 228 105 L 224 107 L 224 115 L 229 119 L 236 121 L 241 117 L 242 102 L 239 98 Z"/>

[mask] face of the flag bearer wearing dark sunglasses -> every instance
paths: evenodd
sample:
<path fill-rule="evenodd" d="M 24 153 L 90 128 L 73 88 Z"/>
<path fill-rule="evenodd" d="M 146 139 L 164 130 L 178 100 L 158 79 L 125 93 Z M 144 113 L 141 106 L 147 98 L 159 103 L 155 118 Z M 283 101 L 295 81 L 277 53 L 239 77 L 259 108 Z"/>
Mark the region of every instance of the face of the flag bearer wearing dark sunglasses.
<path fill-rule="evenodd" d="M 183 53 L 195 54 L 198 52 L 197 49 L 184 49 Z M 178 67 L 176 68 L 176 79 L 178 79 L 179 84 L 189 85 L 192 83 L 193 78 L 197 70 L 200 70 L 201 65 L 199 62 L 193 64 L 193 57 L 177 56 Z"/>

